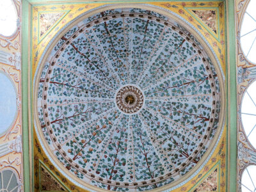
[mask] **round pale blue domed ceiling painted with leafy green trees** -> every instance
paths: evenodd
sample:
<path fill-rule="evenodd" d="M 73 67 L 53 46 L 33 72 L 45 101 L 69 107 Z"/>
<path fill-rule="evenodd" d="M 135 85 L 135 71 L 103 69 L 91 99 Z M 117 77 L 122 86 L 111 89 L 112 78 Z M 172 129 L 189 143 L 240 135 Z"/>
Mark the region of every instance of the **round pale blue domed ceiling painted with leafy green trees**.
<path fill-rule="evenodd" d="M 222 105 L 217 65 L 166 16 L 97 13 L 67 31 L 42 65 L 37 129 L 84 186 L 159 188 L 195 172 L 212 149 Z"/>

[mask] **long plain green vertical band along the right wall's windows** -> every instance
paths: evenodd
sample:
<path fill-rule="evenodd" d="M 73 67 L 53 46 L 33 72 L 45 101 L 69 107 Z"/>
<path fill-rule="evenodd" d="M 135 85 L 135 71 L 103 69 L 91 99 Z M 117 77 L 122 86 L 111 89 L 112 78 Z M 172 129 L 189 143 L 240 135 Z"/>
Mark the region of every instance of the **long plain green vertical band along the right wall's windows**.
<path fill-rule="evenodd" d="M 226 72 L 227 72 L 227 191 L 236 191 L 237 186 L 237 90 L 236 90 L 236 24 L 235 2 L 226 0 Z M 228 66 L 229 65 L 229 66 Z M 230 116 L 229 116 L 230 115 Z"/>

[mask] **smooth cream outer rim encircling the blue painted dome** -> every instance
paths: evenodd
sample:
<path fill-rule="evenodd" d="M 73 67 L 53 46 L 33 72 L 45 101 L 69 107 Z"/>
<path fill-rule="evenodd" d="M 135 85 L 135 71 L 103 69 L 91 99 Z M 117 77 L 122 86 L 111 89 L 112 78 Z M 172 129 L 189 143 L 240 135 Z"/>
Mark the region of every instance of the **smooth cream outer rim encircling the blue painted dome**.
<path fill-rule="evenodd" d="M 109 8 L 109 6 L 111 6 L 111 8 Z M 92 12 L 89 11 L 86 12 L 86 14 L 83 15 L 83 17 L 80 17 L 79 19 L 74 19 L 72 20 L 70 23 L 71 24 L 67 24 L 65 27 L 63 27 L 63 31 L 61 31 L 61 33 L 57 34 L 56 37 L 52 42 L 51 42 L 51 47 L 53 47 L 54 45 L 56 45 L 56 42 L 58 42 L 58 40 L 60 40 L 61 36 L 63 36 L 67 31 L 68 29 L 72 28 L 72 26 L 75 26 L 78 22 L 80 22 L 81 20 L 83 20 L 84 18 L 86 17 L 90 17 L 91 15 L 95 14 L 95 13 L 99 13 L 100 11 L 104 11 L 104 10 L 109 10 L 109 9 L 113 9 L 113 8 L 144 8 L 146 10 L 152 10 L 154 12 L 161 12 L 162 15 L 166 15 L 168 18 L 170 19 L 173 19 L 177 22 L 180 23 L 180 19 L 179 17 L 175 16 L 174 14 L 170 13 L 170 11 L 164 11 L 163 12 L 163 8 L 159 8 L 159 7 L 152 7 L 150 5 L 145 5 L 145 4 L 115 4 L 115 5 L 108 5 L 108 6 L 104 6 L 104 7 L 99 7 L 99 8 L 95 8 L 95 10 L 93 10 Z M 225 102 L 224 102 L 224 99 L 225 99 L 225 90 L 224 90 L 224 83 L 223 83 L 223 79 L 224 77 L 222 76 L 223 73 L 221 73 L 221 68 L 220 68 L 220 65 L 218 65 L 218 60 L 216 59 L 216 57 L 214 56 L 214 53 L 212 53 L 211 49 L 208 47 L 207 43 L 204 42 L 204 40 L 202 40 L 202 37 L 200 35 L 198 35 L 195 30 L 193 28 L 191 28 L 191 26 L 189 26 L 188 24 L 186 23 L 183 23 L 183 26 L 186 26 L 186 29 L 191 32 L 195 37 L 196 37 L 196 40 L 198 40 L 200 42 L 200 44 L 203 45 L 204 49 L 206 49 L 207 53 L 208 53 L 208 56 L 209 58 L 211 59 L 214 67 L 215 67 L 215 70 L 216 70 L 216 73 L 218 74 L 218 77 L 219 77 L 219 81 L 220 81 L 220 97 L 221 97 L 221 107 L 220 107 L 220 122 L 219 122 L 219 126 L 218 126 L 218 129 L 217 129 L 217 134 L 216 136 L 214 136 L 214 139 L 212 140 L 211 142 L 211 146 L 209 147 L 209 149 L 205 152 L 204 154 L 204 157 L 200 160 L 200 162 L 204 162 L 205 159 L 209 156 L 209 154 L 211 153 L 212 151 L 212 147 L 216 144 L 216 141 L 218 140 L 218 136 L 220 135 L 220 132 L 221 132 L 221 127 L 223 127 L 223 124 L 224 124 L 224 115 L 222 115 L 225 111 Z M 40 63 L 44 63 L 45 60 L 47 59 L 47 56 L 49 55 L 49 50 L 51 49 L 47 49 L 47 51 L 45 52 L 44 56 L 42 56 L 42 60 L 40 59 Z M 38 69 L 39 68 L 39 69 Z M 40 73 L 39 73 L 40 71 Z M 37 102 L 37 88 L 38 88 L 38 82 L 39 82 L 39 78 L 40 76 L 38 76 L 38 74 L 41 74 L 42 72 L 42 65 L 38 65 L 38 67 L 36 68 L 36 78 L 34 79 L 34 87 L 35 87 L 35 90 L 36 92 L 34 92 L 34 97 L 33 97 L 33 103 L 34 103 L 34 106 L 36 106 L 36 102 Z M 37 114 L 37 108 L 34 107 L 34 115 Z M 36 116 L 36 115 L 35 115 Z M 39 122 L 38 122 L 38 119 L 35 120 L 36 121 L 36 127 L 40 127 L 38 126 L 39 125 Z M 44 136 L 42 136 L 42 132 L 39 131 L 38 132 L 38 129 L 36 129 L 36 134 L 38 135 L 38 138 L 44 138 Z M 43 144 L 45 147 L 48 147 L 46 142 L 44 140 L 40 140 L 40 143 Z M 45 145 L 46 144 L 46 145 Z M 48 151 L 49 151 L 49 148 L 47 148 Z M 52 158 L 52 159 L 56 159 L 56 157 Z M 62 164 L 60 164 L 60 162 L 58 162 L 58 159 L 57 161 L 54 161 L 55 163 L 58 164 L 58 168 L 60 168 L 60 170 L 65 170 L 65 169 L 62 169 Z M 196 168 L 198 168 L 200 166 L 200 163 L 196 164 L 196 166 L 191 170 L 189 171 L 189 174 L 186 174 L 184 175 L 184 177 L 182 177 L 181 179 L 175 181 L 175 182 L 172 182 L 171 184 L 167 184 L 166 186 L 163 186 L 161 188 L 157 188 L 157 189 L 154 189 L 153 191 L 162 191 L 163 189 L 168 189 L 168 188 L 172 188 L 173 186 L 177 186 L 177 184 L 180 184 L 180 182 L 188 179 L 188 177 L 190 177 L 191 175 L 193 175 L 193 173 L 195 172 Z M 64 173 L 66 173 L 64 171 Z M 76 180 L 79 180 L 79 179 L 76 179 L 74 177 L 74 175 L 72 175 L 71 173 L 66 173 L 69 177 L 71 177 L 72 179 Z M 81 180 L 79 180 L 81 181 Z M 81 182 L 79 182 L 79 184 L 81 184 Z M 82 186 L 84 186 L 84 184 L 81 184 Z M 105 191 L 104 189 L 100 189 L 100 188 L 95 188 L 94 186 L 89 186 L 88 184 L 86 184 L 86 187 L 90 188 L 90 189 L 97 189 L 97 190 L 100 190 L 100 191 Z M 150 190 L 152 191 L 152 190 Z"/>

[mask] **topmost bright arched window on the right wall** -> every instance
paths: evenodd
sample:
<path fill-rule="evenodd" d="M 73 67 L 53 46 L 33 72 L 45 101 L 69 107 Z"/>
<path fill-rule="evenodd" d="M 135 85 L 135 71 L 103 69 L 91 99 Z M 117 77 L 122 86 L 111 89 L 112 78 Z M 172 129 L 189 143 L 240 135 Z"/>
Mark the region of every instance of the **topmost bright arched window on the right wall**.
<path fill-rule="evenodd" d="M 244 56 L 251 62 L 256 63 L 256 1 L 250 1 L 244 13 L 241 26 L 241 47 Z"/>

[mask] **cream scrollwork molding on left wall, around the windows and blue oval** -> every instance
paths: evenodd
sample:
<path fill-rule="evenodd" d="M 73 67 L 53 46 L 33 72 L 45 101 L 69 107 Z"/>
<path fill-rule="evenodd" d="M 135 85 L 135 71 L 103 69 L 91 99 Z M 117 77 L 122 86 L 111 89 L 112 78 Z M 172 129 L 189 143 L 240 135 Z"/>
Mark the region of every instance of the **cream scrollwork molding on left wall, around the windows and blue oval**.
<path fill-rule="evenodd" d="M 21 106 L 21 1 L 12 0 L 17 9 L 17 30 L 11 36 L 0 35 L 0 70 L 12 79 L 16 90 L 16 115 L 13 124 L 0 137 L 0 170 L 1 173 L 12 171 L 17 178 L 17 191 L 23 186 L 22 154 L 22 106 Z M 26 97 L 26 95 L 24 95 Z M 1 108 L 1 106 L 0 106 Z M 27 154 L 28 155 L 28 154 Z M 3 187 L 3 186 L 2 186 Z M 16 189 L 15 189 L 16 190 Z M 14 191 L 15 191 L 14 190 Z"/>

